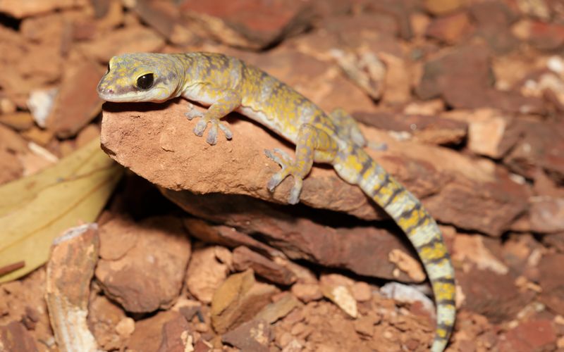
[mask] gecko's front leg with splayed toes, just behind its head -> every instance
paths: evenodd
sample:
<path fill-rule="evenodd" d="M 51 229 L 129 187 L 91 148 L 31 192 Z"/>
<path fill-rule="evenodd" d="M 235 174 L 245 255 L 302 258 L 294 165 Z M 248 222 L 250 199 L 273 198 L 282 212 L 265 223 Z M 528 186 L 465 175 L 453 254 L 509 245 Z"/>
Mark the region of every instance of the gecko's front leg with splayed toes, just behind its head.
<path fill-rule="evenodd" d="M 193 106 L 190 111 L 185 113 L 188 120 L 201 118 L 201 120 L 197 122 L 196 127 L 194 127 L 194 133 L 197 136 L 202 137 L 207 128 L 207 124 L 209 123 L 212 127 L 209 128 L 206 142 L 212 145 L 217 143 L 218 127 L 221 131 L 223 131 L 227 139 L 231 139 L 231 137 L 233 137 L 233 133 L 231 133 L 231 130 L 229 130 L 229 128 L 219 119 L 223 118 L 223 116 L 228 113 L 231 113 L 231 111 L 234 111 L 241 105 L 240 94 L 231 89 L 216 89 L 207 86 L 203 86 L 200 89 L 200 92 L 207 94 L 207 96 L 215 96 L 216 99 L 214 103 L 209 106 L 207 111 L 204 111 L 203 113 L 196 111 Z"/>

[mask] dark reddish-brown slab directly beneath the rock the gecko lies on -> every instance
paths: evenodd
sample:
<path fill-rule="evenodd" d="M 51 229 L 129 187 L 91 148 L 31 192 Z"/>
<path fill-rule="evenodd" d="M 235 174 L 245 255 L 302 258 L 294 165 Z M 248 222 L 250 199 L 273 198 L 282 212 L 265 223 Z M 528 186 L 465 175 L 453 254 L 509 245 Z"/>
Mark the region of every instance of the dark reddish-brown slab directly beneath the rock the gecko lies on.
<path fill-rule="evenodd" d="M 305 259 L 334 268 L 346 268 L 359 275 L 417 281 L 396 270 L 388 259 L 393 250 L 409 253 L 404 235 L 369 226 L 338 228 L 317 223 L 302 215 L 245 196 L 163 190 L 164 194 L 192 215 L 238 228 L 282 251 L 290 259 Z M 321 215 L 321 216 L 331 216 Z"/>

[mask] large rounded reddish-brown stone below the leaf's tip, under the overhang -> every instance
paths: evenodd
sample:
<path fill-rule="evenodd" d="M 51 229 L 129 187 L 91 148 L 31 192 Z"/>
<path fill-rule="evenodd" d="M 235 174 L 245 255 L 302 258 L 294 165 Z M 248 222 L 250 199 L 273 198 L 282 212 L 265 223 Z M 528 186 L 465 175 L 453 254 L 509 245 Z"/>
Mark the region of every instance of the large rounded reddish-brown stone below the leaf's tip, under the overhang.
<path fill-rule="evenodd" d="M 190 258 L 190 240 L 180 219 L 135 223 L 116 218 L 100 228 L 100 244 L 95 275 L 106 295 L 128 312 L 167 308 L 180 294 Z"/>

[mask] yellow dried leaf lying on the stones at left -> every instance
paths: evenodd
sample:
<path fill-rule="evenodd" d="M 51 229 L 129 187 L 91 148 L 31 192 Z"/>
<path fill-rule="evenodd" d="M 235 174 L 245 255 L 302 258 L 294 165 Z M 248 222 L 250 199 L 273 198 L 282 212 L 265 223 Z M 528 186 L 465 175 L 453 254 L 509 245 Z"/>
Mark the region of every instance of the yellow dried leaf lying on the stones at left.
<path fill-rule="evenodd" d="M 51 168 L 0 186 L 0 268 L 25 261 L 0 283 L 46 263 L 53 239 L 69 227 L 96 220 L 122 171 L 94 139 Z"/>

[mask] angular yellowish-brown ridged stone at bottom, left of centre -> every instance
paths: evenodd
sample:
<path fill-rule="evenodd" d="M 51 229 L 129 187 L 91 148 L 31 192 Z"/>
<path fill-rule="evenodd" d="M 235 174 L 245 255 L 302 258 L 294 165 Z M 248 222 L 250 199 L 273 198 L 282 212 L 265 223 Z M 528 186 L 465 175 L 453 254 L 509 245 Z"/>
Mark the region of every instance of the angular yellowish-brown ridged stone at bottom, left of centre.
<path fill-rule="evenodd" d="M 252 270 L 231 275 L 212 300 L 214 330 L 223 334 L 251 320 L 277 293 L 276 287 L 256 282 Z"/>

